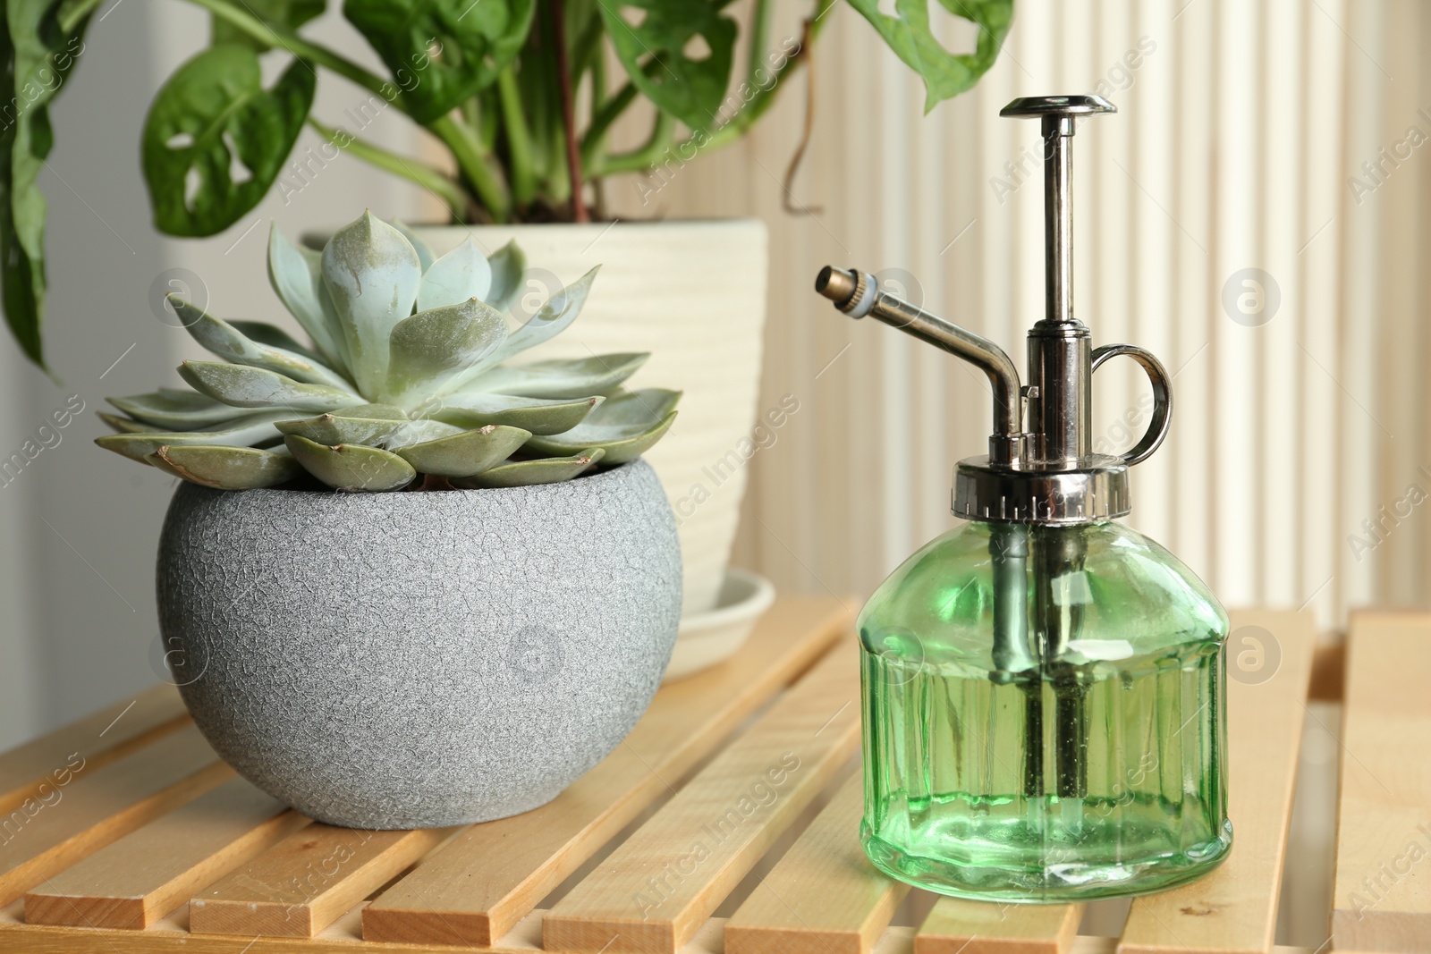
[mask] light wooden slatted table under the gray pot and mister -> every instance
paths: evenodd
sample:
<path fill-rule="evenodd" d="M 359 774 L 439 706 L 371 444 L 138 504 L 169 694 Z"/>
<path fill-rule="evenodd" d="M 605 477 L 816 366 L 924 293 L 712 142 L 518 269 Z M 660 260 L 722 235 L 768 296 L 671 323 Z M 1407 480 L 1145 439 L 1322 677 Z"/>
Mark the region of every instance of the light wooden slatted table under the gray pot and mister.
<path fill-rule="evenodd" d="M 1242 625 L 1274 634 L 1281 665 L 1228 682 L 1234 851 L 1135 898 L 1120 938 L 1079 935 L 1082 905 L 936 900 L 870 867 L 851 621 L 783 596 L 560 798 L 482 825 L 312 822 L 236 778 L 169 687 L 0 755 L 0 953 L 1288 954 L 1274 925 L 1308 684 L 1341 669 L 1314 672 L 1308 615 Z M 1431 862 L 1407 860 L 1431 850 L 1431 616 L 1357 616 L 1349 645 L 1324 950 L 1431 951 Z M 910 895 L 927 915 L 892 927 Z"/>

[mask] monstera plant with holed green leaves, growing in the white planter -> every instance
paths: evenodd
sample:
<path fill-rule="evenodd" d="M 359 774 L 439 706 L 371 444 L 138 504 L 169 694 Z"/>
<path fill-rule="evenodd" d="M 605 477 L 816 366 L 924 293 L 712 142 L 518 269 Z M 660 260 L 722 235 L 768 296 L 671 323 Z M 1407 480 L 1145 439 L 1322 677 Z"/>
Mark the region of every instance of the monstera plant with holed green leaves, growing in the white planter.
<path fill-rule="evenodd" d="M 210 46 L 169 77 L 136 136 L 155 223 L 176 236 L 215 235 L 269 190 L 293 189 L 283 170 L 305 124 L 325 149 L 429 190 L 454 222 L 601 216 L 604 177 L 685 162 L 748 132 L 840 3 L 814 0 L 801 34 L 773 41 L 776 1 L 756 0 L 737 79 L 730 0 L 343 0 L 342 16 L 384 73 L 302 31 L 325 0 L 189 1 L 212 14 Z M 926 109 L 979 80 L 1013 16 L 1013 0 L 939 0 L 979 27 L 975 50 L 953 53 L 934 39 L 929 0 L 894 0 L 893 13 L 880 0 L 849 3 L 923 77 Z M 41 366 L 46 205 L 37 177 L 53 144 L 49 104 L 84 59 L 84 31 L 100 6 L 6 4 L 0 283 L 11 332 Z M 259 69 L 265 51 L 289 60 L 269 84 Z M 615 74 L 608 62 L 620 64 Z M 363 90 L 348 110 L 355 123 L 366 126 L 391 104 L 441 142 L 448 166 L 313 116 L 318 77 L 329 74 Z M 608 133 L 637 100 L 654 106 L 650 134 L 617 152 Z"/>

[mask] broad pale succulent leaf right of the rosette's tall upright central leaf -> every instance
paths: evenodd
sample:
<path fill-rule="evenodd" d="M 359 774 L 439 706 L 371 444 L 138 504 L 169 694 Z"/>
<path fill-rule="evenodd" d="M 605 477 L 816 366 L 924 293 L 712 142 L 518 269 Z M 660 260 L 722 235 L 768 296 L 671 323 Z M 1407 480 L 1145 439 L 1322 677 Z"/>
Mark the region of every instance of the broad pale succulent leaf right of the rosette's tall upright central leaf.
<path fill-rule="evenodd" d="M 405 318 L 392 329 L 382 400 L 411 408 L 435 398 L 505 340 L 502 315 L 477 299 Z"/>

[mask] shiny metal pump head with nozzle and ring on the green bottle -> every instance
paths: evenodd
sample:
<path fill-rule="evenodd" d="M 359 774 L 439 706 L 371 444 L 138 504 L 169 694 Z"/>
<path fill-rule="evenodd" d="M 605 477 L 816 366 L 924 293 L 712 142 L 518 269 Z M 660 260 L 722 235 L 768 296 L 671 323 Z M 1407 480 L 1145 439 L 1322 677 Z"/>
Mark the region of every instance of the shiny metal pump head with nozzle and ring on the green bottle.
<path fill-rule="evenodd" d="M 956 516 L 1017 523 L 1086 523 L 1130 509 L 1128 468 L 1145 461 L 1168 433 L 1168 372 L 1132 345 L 1092 348 L 1073 316 L 1073 134 L 1080 116 L 1116 113 L 1102 96 L 1016 99 L 999 113 L 1039 117 L 1043 130 L 1045 306 L 1029 329 L 1027 386 L 993 342 L 879 287 L 873 275 L 826 266 L 816 290 L 851 318 L 871 315 L 976 365 L 995 398 L 989 455 L 954 469 Z M 1153 415 L 1148 432 L 1122 456 L 1092 452 L 1092 376 L 1109 358 L 1128 355 L 1148 373 Z"/>

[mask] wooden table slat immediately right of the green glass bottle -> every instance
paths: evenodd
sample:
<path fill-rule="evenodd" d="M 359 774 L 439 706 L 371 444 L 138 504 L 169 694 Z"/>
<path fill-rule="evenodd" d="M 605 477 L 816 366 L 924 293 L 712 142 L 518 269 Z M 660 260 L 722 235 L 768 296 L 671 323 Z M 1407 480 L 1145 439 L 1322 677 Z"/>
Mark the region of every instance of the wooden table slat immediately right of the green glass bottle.
<path fill-rule="evenodd" d="M 1236 661 L 1228 659 L 1232 851 L 1206 877 L 1135 898 L 1119 954 L 1261 954 L 1272 948 L 1317 629 L 1309 612 L 1272 611 L 1234 612 L 1234 635 L 1241 626 L 1271 632 L 1282 658 L 1265 682 L 1234 678 Z"/>

